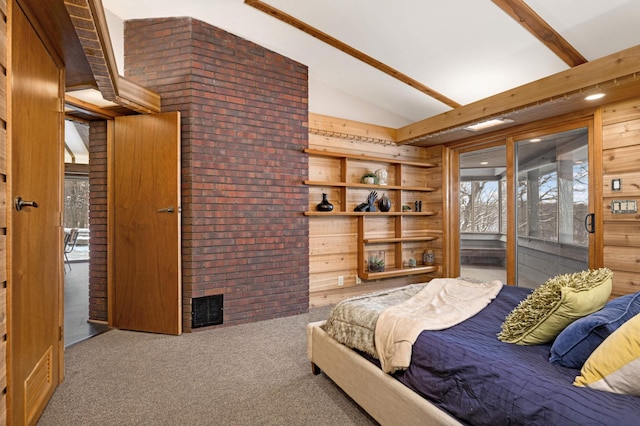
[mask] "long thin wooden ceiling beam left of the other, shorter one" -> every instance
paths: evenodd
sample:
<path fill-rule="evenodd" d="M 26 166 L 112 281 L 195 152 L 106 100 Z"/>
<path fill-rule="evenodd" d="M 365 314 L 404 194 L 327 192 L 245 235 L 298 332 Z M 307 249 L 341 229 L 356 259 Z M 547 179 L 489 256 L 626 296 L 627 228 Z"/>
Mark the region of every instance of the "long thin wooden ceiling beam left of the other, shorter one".
<path fill-rule="evenodd" d="M 291 15 L 288 15 L 286 13 L 284 13 L 283 11 L 276 9 L 275 7 L 272 7 L 266 3 L 263 3 L 262 1 L 259 0 L 245 0 L 245 3 L 251 7 L 254 7 L 258 10 L 260 10 L 261 12 L 264 12 L 268 15 L 271 15 L 272 17 L 278 19 L 279 21 L 284 22 L 285 24 L 291 25 L 292 27 L 295 27 L 297 29 L 299 29 L 300 31 L 303 31 L 307 34 L 309 34 L 312 37 L 317 38 L 318 40 L 327 43 L 330 46 L 333 46 L 334 48 L 346 53 L 347 55 L 358 59 L 362 62 L 364 62 L 367 65 L 370 65 L 374 68 L 376 68 L 379 71 L 382 71 L 383 73 L 390 75 L 391 77 L 405 83 L 408 84 L 409 86 L 413 87 L 416 90 L 419 90 L 420 92 L 431 96 L 432 98 L 442 102 L 443 104 L 451 107 L 451 108 L 457 108 L 459 106 L 461 106 L 459 103 L 457 103 L 456 101 L 449 99 L 448 97 L 444 96 L 441 93 L 436 92 L 435 90 L 425 86 L 424 84 L 420 83 L 417 80 L 414 80 L 413 78 L 409 77 L 406 74 L 401 73 L 400 71 L 396 70 L 395 68 L 390 67 L 389 65 L 380 62 L 379 60 L 372 58 L 371 56 L 361 52 L 358 49 L 355 49 L 351 46 L 349 46 L 348 44 L 330 36 L 327 33 L 324 33 L 320 30 L 318 30 L 315 27 L 312 27 L 311 25 L 307 24 L 306 22 L 303 22 L 297 18 L 294 18 Z"/>

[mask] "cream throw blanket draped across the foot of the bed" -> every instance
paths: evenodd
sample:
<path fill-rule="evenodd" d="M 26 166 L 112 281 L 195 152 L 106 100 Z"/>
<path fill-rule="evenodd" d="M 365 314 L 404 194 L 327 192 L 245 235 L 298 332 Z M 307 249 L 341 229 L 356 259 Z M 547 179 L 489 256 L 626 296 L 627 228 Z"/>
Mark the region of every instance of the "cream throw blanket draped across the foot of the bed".
<path fill-rule="evenodd" d="M 393 373 L 409 367 L 411 348 L 423 330 L 443 330 L 471 318 L 501 289 L 500 281 L 471 283 L 437 278 L 412 298 L 382 311 L 375 328 L 382 370 Z"/>

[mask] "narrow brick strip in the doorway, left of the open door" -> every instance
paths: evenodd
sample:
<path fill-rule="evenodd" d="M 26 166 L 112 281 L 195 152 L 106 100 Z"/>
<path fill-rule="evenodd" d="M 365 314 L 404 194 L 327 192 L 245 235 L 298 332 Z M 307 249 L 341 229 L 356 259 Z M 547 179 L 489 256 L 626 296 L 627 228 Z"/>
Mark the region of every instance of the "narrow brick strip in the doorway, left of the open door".
<path fill-rule="evenodd" d="M 107 321 L 107 123 L 89 127 L 89 318 Z"/>

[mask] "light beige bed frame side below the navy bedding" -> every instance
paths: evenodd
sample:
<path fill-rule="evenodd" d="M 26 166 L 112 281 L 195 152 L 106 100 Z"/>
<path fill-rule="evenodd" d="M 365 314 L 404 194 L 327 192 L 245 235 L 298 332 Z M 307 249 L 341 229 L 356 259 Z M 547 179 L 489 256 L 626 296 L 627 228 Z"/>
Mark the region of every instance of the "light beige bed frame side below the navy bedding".
<path fill-rule="evenodd" d="M 392 376 L 338 343 L 322 326 L 325 321 L 307 325 L 307 356 L 313 374 L 324 372 L 360 407 L 382 425 L 460 425 Z"/>

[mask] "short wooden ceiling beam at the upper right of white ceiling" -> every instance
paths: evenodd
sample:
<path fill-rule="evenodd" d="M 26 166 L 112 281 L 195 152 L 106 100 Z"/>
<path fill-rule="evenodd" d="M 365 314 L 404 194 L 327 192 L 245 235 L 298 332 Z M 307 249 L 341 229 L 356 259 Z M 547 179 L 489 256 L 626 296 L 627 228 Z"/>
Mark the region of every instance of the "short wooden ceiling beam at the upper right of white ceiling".
<path fill-rule="evenodd" d="M 575 67 L 587 62 L 567 40 L 533 11 L 523 0 L 491 0 L 500 9 L 527 29 L 558 55 L 567 65 Z"/>

